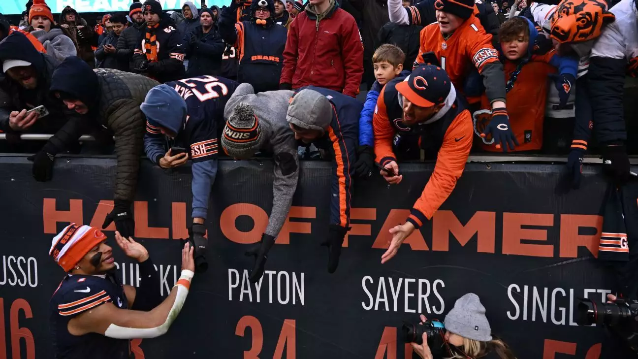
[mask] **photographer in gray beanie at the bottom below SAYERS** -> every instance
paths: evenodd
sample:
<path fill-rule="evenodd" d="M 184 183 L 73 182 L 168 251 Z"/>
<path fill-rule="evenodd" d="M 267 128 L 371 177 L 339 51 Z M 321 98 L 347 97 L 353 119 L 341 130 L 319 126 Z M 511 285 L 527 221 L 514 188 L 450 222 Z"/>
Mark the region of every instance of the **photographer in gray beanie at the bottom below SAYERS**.
<path fill-rule="evenodd" d="M 421 315 L 421 325 L 426 317 Z M 423 333 L 423 344 L 412 342 L 415 353 L 424 359 L 516 359 L 507 344 L 491 335 L 485 316 L 485 307 L 479 296 L 468 293 L 454 303 L 454 308 L 445 316 L 443 344 L 430 348 L 427 334 Z M 436 338 L 434 338 L 436 339 Z M 431 340 L 430 344 L 433 341 Z"/>

